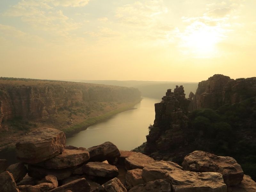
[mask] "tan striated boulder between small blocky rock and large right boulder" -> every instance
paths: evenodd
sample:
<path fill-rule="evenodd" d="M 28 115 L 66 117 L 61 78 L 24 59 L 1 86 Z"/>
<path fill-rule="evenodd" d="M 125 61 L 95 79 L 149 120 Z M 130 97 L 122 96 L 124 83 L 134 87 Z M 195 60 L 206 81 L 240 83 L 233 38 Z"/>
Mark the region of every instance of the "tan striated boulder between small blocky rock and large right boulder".
<path fill-rule="evenodd" d="M 182 167 L 172 161 L 156 161 L 143 168 L 142 178 L 146 182 L 165 179 L 165 174 L 174 170 L 182 170 Z"/>

